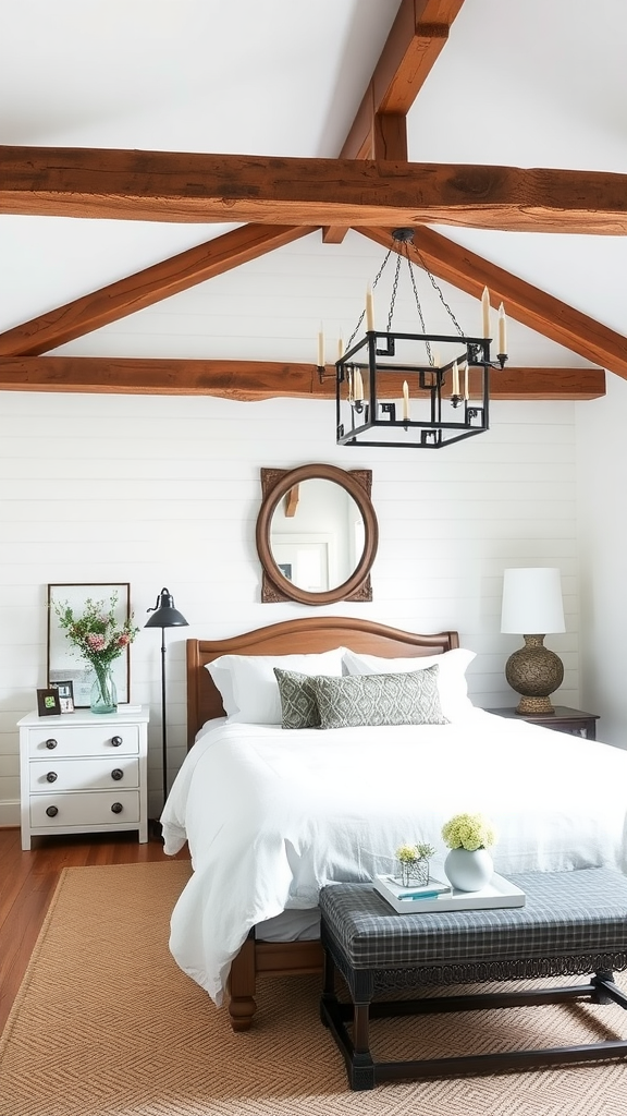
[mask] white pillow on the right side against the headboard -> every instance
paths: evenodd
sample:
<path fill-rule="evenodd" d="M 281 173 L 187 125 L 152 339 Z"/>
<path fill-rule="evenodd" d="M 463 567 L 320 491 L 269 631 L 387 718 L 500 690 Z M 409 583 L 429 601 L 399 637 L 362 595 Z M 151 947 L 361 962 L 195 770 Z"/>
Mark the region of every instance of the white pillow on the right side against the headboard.
<path fill-rule="evenodd" d="M 357 655 L 346 650 L 344 665 L 349 674 L 405 674 L 437 665 L 437 689 L 440 704 L 447 721 L 460 721 L 474 709 L 467 693 L 466 667 L 475 658 L 474 651 L 454 647 L 443 655 L 425 655 L 424 658 L 382 658 L 377 655 Z"/>

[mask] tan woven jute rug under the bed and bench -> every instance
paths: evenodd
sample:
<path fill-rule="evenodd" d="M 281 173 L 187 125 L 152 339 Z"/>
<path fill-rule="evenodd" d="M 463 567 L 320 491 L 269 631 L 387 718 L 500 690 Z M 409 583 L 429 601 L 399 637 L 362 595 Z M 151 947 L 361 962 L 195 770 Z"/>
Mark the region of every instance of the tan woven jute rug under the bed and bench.
<path fill-rule="evenodd" d="M 167 950 L 186 862 L 68 868 L 0 1040 L 1 1116 L 625 1116 L 627 1066 L 606 1062 L 348 1089 L 318 1014 L 319 978 L 260 982 L 255 1024 Z M 625 1036 L 616 1007 L 543 1006 L 377 1022 L 375 1054 L 553 1046 Z"/>

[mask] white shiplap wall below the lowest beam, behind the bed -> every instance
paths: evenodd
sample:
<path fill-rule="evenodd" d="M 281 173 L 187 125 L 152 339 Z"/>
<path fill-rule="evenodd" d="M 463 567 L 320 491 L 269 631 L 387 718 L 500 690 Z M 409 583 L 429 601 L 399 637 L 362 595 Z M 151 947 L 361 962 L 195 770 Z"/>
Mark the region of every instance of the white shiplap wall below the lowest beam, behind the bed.
<path fill-rule="evenodd" d="M 476 651 L 479 705 L 512 704 L 499 632 L 502 571 L 557 565 L 567 634 L 558 694 L 578 702 L 576 426 L 572 403 L 501 403 L 492 429 L 440 452 L 341 449 L 334 404 L 7 392 L 0 395 L 0 824 L 17 820 L 16 721 L 46 684 L 49 583 L 129 581 L 143 626 L 162 586 L 190 622 L 166 633 L 168 742 L 185 751 L 184 639 L 303 615 L 260 604 L 254 523 L 262 465 L 373 470 L 380 529 L 372 604 L 328 607 L 414 631 L 457 628 Z M 149 703 L 152 812 L 161 786 L 161 632 L 132 647 L 134 702 Z"/>

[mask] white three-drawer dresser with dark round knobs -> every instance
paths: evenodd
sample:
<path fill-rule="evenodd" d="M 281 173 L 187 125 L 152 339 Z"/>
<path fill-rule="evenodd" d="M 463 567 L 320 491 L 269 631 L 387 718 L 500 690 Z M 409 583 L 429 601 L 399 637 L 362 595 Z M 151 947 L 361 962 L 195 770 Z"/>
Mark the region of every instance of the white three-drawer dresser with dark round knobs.
<path fill-rule="evenodd" d="M 147 841 L 148 718 L 142 706 L 18 722 L 23 849 L 33 836 L 119 829 Z"/>

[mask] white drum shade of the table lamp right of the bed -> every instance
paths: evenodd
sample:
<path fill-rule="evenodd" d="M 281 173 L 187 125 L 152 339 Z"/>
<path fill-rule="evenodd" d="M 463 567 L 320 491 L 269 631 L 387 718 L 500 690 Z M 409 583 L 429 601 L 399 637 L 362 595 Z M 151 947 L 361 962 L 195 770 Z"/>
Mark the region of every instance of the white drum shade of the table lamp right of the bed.
<path fill-rule="evenodd" d="M 518 635 L 566 632 L 559 569 L 504 570 L 501 632 Z"/>

